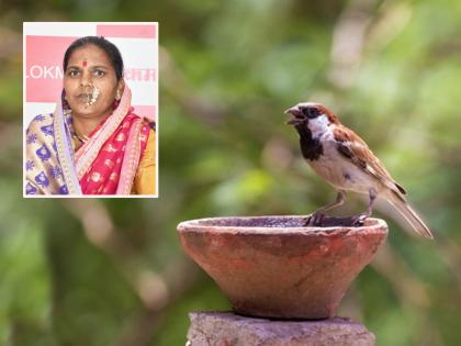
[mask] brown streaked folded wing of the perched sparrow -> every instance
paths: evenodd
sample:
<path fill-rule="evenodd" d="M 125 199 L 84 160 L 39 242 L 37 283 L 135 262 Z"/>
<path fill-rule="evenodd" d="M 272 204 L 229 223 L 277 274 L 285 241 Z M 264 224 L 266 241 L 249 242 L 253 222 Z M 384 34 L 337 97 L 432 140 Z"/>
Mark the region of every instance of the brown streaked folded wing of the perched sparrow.
<path fill-rule="evenodd" d="M 392 179 L 389 171 L 362 138 L 353 131 L 338 125 L 334 127 L 333 134 L 336 141 L 336 147 L 344 157 L 379 179 L 384 186 L 403 198 L 403 194 L 406 193 L 404 188 Z"/>

